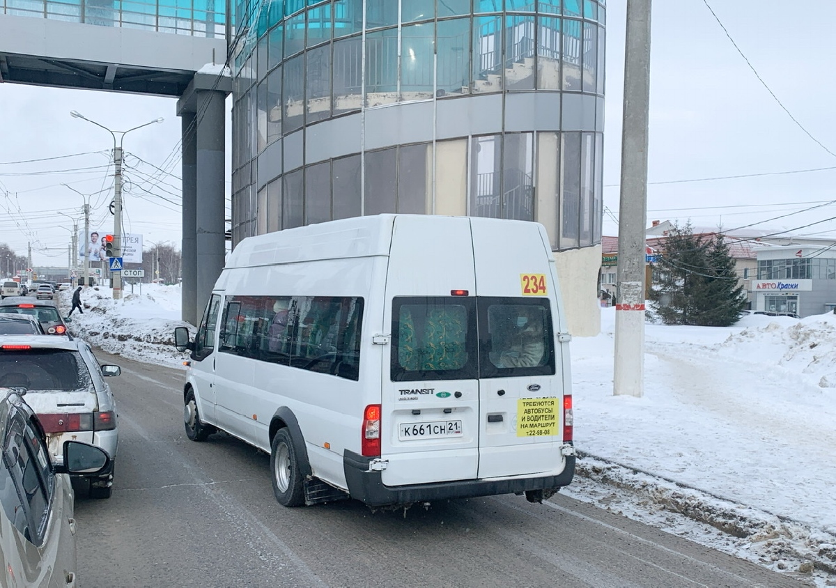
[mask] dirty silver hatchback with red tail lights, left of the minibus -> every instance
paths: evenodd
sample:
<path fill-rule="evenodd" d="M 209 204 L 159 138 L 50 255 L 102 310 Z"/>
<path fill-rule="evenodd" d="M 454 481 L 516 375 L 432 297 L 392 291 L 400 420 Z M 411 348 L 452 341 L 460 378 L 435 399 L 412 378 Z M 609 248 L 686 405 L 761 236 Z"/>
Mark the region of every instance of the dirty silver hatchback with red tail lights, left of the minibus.
<path fill-rule="evenodd" d="M 49 454 L 61 463 L 69 440 L 102 448 L 110 467 L 86 475 L 90 498 L 108 499 L 119 433 L 116 403 L 104 376 L 119 366 L 100 366 L 83 340 L 48 335 L 0 335 L 0 386 L 23 388 L 46 433 Z"/>

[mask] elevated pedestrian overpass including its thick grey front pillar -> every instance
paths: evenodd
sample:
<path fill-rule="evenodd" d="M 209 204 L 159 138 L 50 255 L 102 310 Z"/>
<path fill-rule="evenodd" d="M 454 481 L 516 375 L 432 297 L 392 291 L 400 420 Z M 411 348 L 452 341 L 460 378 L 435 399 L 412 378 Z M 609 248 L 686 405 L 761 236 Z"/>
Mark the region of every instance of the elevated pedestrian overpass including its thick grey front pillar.
<path fill-rule="evenodd" d="M 231 13 L 221 0 L 0 0 L 0 92 L 29 84 L 179 99 L 182 308 L 193 324 L 224 262 Z"/>

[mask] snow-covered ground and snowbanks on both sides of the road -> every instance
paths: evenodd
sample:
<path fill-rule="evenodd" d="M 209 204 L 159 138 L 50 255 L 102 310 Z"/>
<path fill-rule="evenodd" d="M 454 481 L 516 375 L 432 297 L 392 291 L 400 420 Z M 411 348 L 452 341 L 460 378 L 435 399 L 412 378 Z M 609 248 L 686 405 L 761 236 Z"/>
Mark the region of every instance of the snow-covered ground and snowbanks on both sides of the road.
<path fill-rule="evenodd" d="M 182 368 L 178 286 L 85 289 L 70 330 Z M 61 293 L 69 310 L 72 292 Z M 836 315 L 645 325 L 645 393 L 613 396 L 614 309 L 572 343 L 578 475 L 563 492 L 817 586 L 836 585 Z"/>

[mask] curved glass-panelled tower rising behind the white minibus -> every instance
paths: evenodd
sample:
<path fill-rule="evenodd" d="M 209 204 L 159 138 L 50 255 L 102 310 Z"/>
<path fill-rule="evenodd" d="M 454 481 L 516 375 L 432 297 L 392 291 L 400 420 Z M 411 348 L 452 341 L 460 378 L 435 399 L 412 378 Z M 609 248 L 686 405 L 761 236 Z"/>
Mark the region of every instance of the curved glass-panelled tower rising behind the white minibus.
<path fill-rule="evenodd" d="M 233 246 L 381 212 L 535 220 L 555 251 L 600 243 L 604 0 L 235 13 Z"/>

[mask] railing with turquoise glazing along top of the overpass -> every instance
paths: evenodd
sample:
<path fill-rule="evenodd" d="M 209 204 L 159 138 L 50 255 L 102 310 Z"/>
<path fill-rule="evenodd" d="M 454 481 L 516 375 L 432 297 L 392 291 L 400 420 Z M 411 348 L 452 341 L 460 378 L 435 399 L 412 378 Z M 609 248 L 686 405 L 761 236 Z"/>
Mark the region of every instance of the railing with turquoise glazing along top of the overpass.
<path fill-rule="evenodd" d="M 223 38 L 225 0 L 0 0 L 0 14 Z"/>

